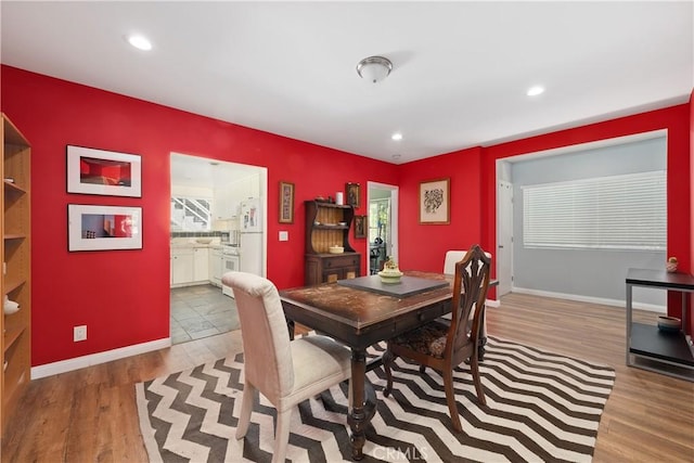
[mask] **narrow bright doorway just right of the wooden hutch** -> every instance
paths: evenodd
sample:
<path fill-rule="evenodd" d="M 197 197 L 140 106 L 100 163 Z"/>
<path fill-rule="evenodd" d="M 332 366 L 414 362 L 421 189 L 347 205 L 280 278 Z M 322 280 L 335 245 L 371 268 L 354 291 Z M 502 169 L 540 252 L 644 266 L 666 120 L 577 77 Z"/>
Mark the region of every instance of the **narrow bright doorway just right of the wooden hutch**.
<path fill-rule="evenodd" d="M 377 273 L 388 257 L 398 261 L 398 187 L 368 182 L 369 260 L 367 272 Z"/>

